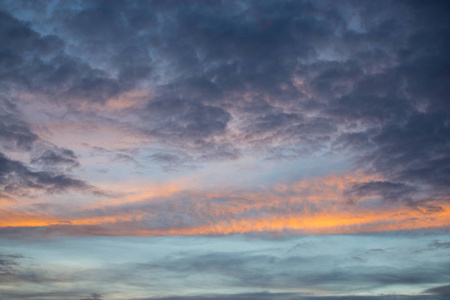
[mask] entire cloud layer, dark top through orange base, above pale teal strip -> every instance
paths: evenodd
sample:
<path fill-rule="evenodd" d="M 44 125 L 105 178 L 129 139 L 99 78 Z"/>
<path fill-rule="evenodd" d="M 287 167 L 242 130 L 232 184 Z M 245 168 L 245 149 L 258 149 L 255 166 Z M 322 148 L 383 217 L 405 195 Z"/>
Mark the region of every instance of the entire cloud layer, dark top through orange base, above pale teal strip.
<path fill-rule="evenodd" d="M 446 3 L 0 9 L 3 215 L 83 234 L 449 226 Z"/>

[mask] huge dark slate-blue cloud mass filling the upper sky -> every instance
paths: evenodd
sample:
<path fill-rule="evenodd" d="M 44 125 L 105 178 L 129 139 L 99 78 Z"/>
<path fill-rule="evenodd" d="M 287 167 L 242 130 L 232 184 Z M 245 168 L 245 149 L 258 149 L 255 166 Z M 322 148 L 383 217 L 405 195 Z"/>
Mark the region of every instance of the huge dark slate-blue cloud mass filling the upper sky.
<path fill-rule="evenodd" d="M 383 178 L 353 187 L 350 198 L 429 210 L 448 200 L 444 2 L 24 4 L 29 22 L 17 4 L 2 6 L 2 144 L 30 150 L 38 139 L 15 112 L 17 91 L 106 122 L 101 108 L 81 108 L 146 89 L 143 103 L 108 120 L 170 148 L 148 156 L 166 171 L 248 154 L 342 151 L 356 169 Z M 32 162 L 74 159 L 48 151 Z M 113 159 L 138 165 L 126 153 Z"/>

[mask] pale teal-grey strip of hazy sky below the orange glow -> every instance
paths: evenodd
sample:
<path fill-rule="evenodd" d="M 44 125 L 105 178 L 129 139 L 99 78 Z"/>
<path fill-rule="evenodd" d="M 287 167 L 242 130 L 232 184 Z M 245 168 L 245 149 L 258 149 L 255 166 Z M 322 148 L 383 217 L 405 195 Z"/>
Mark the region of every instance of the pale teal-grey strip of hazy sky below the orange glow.
<path fill-rule="evenodd" d="M 0 257 L 1 260 L 13 263 L 20 262 L 20 265 L 2 263 L 14 269 L 11 272 L 14 276 L 7 278 L 7 284 L 11 287 L 21 284 L 21 288 L 7 291 L 11 299 L 57 299 L 64 292 L 74 299 L 107 299 L 117 292 L 124 294 L 125 298 L 129 292 L 128 295 L 141 297 L 138 299 L 152 299 L 147 296 L 150 291 L 154 299 L 180 300 L 193 297 L 256 299 L 258 296 L 261 299 L 280 300 L 440 300 L 445 299 L 440 298 L 440 295 L 445 295 L 445 284 L 450 278 L 446 256 L 435 256 L 430 251 L 416 251 L 423 244 L 445 237 L 446 232 L 276 239 L 244 239 L 242 236 L 221 239 L 102 237 L 96 239 L 101 242 L 93 243 L 92 237 L 60 240 L 55 239 L 54 234 L 49 235 L 49 239 L 45 241 L 36 240 L 36 234 L 42 233 L 45 228 L 27 230 L 30 240 L 19 238 L 17 231 L 13 238 L 5 238 L 4 232 L 7 230 L 11 229 L 1 230 L 2 239 L 9 241 L 11 247 L 22 244 L 33 246 L 24 249 L 27 257 L 29 253 L 40 254 L 43 250 L 47 251 L 45 256 L 23 262 L 21 256 Z M 329 247 L 330 244 L 334 247 Z M 372 251 L 374 246 L 382 247 L 383 251 Z M 112 248 L 123 252 L 111 251 Z M 82 254 L 95 263 L 81 264 L 74 268 L 73 263 L 78 264 Z M 47 267 L 49 260 L 54 261 L 54 268 Z M 35 284 L 53 287 L 51 290 L 54 294 L 39 294 L 34 288 Z M 398 286 L 423 290 L 424 294 L 420 295 L 422 298 L 378 294 Z M 216 293 L 217 288 L 227 289 L 230 293 Z M 170 294 L 167 293 L 169 289 Z M 292 289 L 296 292 L 289 293 Z M 93 291 L 96 294 L 92 294 Z M 158 293 L 174 296 L 158 297 Z M 372 293 L 373 296 L 349 296 L 359 293 Z M 92 295 L 87 296 L 90 294 Z"/>

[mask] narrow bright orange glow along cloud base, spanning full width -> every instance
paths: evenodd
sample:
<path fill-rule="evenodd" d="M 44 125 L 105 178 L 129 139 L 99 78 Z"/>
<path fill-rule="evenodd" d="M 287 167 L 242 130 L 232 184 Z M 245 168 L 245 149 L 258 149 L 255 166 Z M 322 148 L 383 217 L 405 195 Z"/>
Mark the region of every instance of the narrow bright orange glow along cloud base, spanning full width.
<path fill-rule="evenodd" d="M 292 231 L 302 234 L 343 234 L 363 233 L 391 230 L 409 230 L 420 228 L 449 228 L 450 206 L 442 207 L 442 211 L 423 213 L 415 209 L 397 209 L 385 211 L 357 212 L 318 212 L 294 214 L 286 217 L 271 216 L 267 218 L 233 218 L 229 220 L 211 221 L 206 225 L 184 228 L 168 228 L 163 230 L 142 229 L 139 223 L 144 214 L 130 216 L 108 216 L 83 218 L 76 220 L 60 220 L 55 217 L 31 216 L 27 214 L 2 216 L 1 227 L 34 227 L 65 225 L 102 225 L 101 231 L 83 230 L 83 234 L 107 235 L 201 235 L 201 234 L 234 234 L 248 232 Z M 212 214 L 214 215 L 214 214 Z M 201 214 L 200 214 L 201 217 Z M 141 228 L 140 228 L 141 227 Z"/>

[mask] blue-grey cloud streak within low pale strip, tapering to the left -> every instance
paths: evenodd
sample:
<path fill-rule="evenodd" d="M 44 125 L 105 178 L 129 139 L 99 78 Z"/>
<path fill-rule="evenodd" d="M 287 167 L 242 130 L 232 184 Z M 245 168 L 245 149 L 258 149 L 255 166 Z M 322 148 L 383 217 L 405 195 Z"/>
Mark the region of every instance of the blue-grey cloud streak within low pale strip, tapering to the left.
<path fill-rule="evenodd" d="M 310 287 L 337 288 L 339 286 L 343 291 L 349 284 L 366 286 L 366 288 L 397 284 L 414 285 L 434 283 L 436 280 L 450 276 L 450 273 L 446 271 L 448 265 L 433 267 L 421 265 L 420 273 L 414 273 L 413 269 L 409 268 L 403 268 L 400 271 L 388 266 L 381 268 L 373 266 L 370 270 L 366 270 L 363 266 L 357 265 L 357 262 L 364 262 L 362 259 L 356 260 L 355 263 L 341 264 L 339 268 L 330 268 L 327 272 L 314 272 L 310 269 L 321 260 L 324 263 L 323 260 L 326 259 L 330 258 L 216 252 L 172 262 L 140 265 L 136 268 L 159 268 L 189 274 L 215 274 L 219 278 L 225 276 L 231 280 L 233 286 L 240 287 L 295 288 L 300 284 Z"/>

